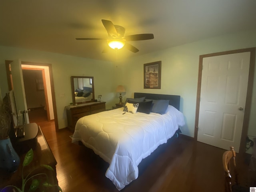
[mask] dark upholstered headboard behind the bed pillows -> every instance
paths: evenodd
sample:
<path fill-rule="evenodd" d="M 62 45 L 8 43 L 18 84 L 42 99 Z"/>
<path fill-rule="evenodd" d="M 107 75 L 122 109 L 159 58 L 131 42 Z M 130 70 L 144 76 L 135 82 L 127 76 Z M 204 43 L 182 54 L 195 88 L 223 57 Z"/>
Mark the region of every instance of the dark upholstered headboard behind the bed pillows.
<path fill-rule="evenodd" d="M 152 93 L 134 93 L 134 98 L 146 97 L 146 99 L 154 100 L 169 100 L 169 105 L 174 106 L 180 110 L 180 96 L 179 95 L 162 95 Z"/>

